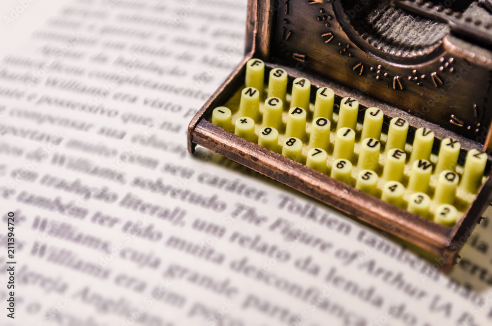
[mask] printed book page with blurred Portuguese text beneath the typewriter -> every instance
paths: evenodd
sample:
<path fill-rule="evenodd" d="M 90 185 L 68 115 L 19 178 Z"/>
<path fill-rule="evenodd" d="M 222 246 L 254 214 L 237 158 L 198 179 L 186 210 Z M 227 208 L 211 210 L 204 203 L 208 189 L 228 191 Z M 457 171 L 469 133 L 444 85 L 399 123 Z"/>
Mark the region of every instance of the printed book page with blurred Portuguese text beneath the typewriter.
<path fill-rule="evenodd" d="M 492 323 L 488 214 L 444 274 L 386 232 L 186 153 L 245 25 L 244 0 L 70 0 L 2 59 L 0 325 Z"/>

